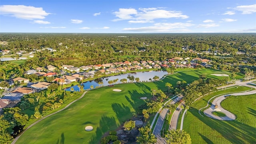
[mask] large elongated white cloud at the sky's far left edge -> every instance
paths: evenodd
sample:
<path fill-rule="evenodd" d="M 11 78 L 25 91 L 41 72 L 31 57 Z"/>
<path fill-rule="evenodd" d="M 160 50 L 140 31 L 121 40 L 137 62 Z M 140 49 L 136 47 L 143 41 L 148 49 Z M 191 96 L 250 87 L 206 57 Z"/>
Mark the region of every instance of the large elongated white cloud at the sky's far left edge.
<path fill-rule="evenodd" d="M 0 6 L 0 14 L 13 16 L 26 20 L 44 19 L 50 13 L 47 13 L 43 8 L 24 5 L 2 5 Z"/>

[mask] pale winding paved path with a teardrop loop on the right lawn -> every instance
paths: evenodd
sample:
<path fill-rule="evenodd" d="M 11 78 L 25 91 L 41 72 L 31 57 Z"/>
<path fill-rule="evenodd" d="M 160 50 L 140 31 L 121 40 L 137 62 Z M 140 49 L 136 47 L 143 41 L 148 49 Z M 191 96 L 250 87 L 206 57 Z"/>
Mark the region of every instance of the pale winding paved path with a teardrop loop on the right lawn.
<path fill-rule="evenodd" d="M 248 85 L 248 82 L 240 82 L 240 85 L 242 86 L 247 86 L 247 87 L 251 87 L 251 88 L 256 88 L 256 86 L 252 86 L 252 85 Z M 220 103 L 226 99 L 226 96 L 243 96 L 243 95 L 249 95 L 249 94 L 256 94 L 256 90 L 251 90 L 251 91 L 247 91 L 247 92 L 238 92 L 238 93 L 232 93 L 232 94 L 224 94 L 221 95 L 217 98 L 215 98 L 212 102 L 212 105 L 210 106 L 210 108 L 204 110 L 204 114 L 210 118 L 214 118 L 217 120 L 235 120 L 236 116 L 234 114 L 232 114 L 231 112 L 229 112 L 228 110 L 225 110 L 224 108 L 222 108 L 222 106 L 220 105 Z M 208 101 L 209 104 L 210 100 Z M 215 110 L 215 104 L 217 104 L 218 109 L 220 109 L 221 112 L 223 112 L 224 114 L 226 114 L 226 116 L 216 116 L 214 114 L 212 114 L 212 112 L 214 112 Z"/>

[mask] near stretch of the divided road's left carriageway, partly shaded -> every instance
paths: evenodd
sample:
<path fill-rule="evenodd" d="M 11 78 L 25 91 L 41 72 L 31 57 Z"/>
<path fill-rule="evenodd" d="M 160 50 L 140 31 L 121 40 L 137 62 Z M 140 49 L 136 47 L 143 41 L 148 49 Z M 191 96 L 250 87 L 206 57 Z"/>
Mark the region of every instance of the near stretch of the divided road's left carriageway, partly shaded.
<path fill-rule="evenodd" d="M 161 130 L 162 130 L 162 127 L 163 127 L 163 124 L 164 124 L 164 119 L 165 119 L 165 116 L 168 112 L 168 109 L 167 108 L 164 108 L 164 110 L 162 110 L 160 116 L 158 117 L 158 120 L 156 122 L 156 126 L 153 130 L 153 134 L 156 136 L 157 138 L 157 144 L 166 144 L 166 141 L 164 138 L 161 138 L 160 134 L 161 134 Z"/>

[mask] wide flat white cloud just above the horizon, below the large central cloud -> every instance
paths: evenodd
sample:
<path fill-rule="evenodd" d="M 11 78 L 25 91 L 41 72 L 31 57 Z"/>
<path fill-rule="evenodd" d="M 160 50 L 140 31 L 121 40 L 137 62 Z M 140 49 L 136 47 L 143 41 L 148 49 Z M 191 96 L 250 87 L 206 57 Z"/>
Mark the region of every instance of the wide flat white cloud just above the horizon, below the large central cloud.
<path fill-rule="evenodd" d="M 193 26 L 191 23 L 156 23 L 154 26 L 146 26 L 140 28 L 124 28 L 124 31 L 133 32 L 188 32 L 187 27 Z"/>

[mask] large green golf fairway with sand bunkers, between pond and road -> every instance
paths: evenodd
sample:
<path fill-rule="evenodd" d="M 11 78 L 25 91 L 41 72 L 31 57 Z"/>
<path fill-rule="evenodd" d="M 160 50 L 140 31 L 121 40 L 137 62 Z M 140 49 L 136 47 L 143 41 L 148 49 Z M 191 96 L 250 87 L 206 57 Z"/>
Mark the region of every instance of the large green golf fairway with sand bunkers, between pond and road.
<path fill-rule="evenodd" d="M 152 97 L 150 95 L 151 88 L 167 90 L 168 88 L 164 86 L 166 82 L 175 86 L 178 80 L 186 80 L 191 83 L 197 80 L 201 74 L 212 77 L 210 74 L 216 73 L 229 74 L 228 71 L 189 69 L 189 71 L 166 76 L 157 82 L 118 84 L 114 87 L 106 86 L 91 90 L 66 110 L 32 126 L 20 136 L 16 143 L 98 144 L 104 133 L 116 130 L 123 122 L 132 118 L 138 106 L 145 103 L 140 97 L 146 96 L 149 99 Z M 113 92 L 112 89 L 114 88 L 121 89 L 122 92 Z M 87 125 L 92 125 L 94 129 L 86 132 L 84 128 Z"/>

